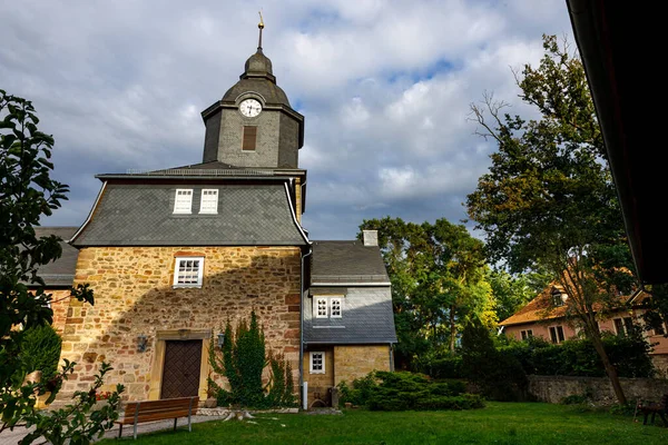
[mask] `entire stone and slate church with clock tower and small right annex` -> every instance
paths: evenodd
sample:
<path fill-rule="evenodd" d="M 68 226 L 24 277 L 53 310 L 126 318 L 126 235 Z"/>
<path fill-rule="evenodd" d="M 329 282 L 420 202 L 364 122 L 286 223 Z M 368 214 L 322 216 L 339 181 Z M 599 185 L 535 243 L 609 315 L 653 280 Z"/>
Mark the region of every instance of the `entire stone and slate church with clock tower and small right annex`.
<path fill-rule="evenodd" d="M 61 359 L 77 363 L 62 397 L 89 388 L 105 360 L 106 388 L 124 384 L 128 400 L 204 400 L 209 345 L 252 310 L 267 350 L 283 354 L 295 389 L 306 389 L 305 407 L 328 405 L 341 382 L 392 369 L 377 234 L 317 241 L 302 227 L 304 117 L 276 85 L 263 27 L 239 80 L 202 112 L 200 159 L 97 176 L 88 218 L 70 228 L 76 261 L 68 250 L 71 270 L 59 270 L 95 293 L 94 306 L 69 300 L 56 322 Z"/>

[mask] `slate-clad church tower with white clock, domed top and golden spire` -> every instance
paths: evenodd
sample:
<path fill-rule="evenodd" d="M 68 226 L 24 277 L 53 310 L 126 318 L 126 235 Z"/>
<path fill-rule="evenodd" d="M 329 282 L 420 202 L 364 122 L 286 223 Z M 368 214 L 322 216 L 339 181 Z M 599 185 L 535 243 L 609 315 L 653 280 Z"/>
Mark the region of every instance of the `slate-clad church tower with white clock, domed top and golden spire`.
<path fill-rule="evenodd" d="M 206 126 L 203 162 L 232 167 L 298 168 L 304 145 L 304 116 L 295 111 L 276 85 L 272 61 L 262 50 L 246 60 L 239 81 L 223 99 L 202 112 Z"/>

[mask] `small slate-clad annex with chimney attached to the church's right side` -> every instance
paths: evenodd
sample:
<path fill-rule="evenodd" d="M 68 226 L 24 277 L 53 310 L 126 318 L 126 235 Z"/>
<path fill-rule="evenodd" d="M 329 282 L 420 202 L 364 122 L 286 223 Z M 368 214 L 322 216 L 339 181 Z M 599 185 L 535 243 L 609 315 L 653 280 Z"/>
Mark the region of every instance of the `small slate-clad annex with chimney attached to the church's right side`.
<path fill-rule="evenodd" d="M 362 240 L 313 241 L 311 264 L 303 372 L 310 403 L 328 405 L 327 388 L 391 369 L 392 294 L 375 230 L 364 230 Z"/>

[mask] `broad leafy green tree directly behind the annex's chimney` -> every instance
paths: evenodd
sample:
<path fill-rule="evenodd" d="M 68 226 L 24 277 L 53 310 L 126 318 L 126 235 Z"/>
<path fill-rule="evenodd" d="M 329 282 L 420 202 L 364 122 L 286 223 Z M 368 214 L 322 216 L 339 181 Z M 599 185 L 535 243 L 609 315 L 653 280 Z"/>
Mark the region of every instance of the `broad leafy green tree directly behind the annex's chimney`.
<path fill-rule="evenodd" d="M 360 229 L 379 231 L 392 283 L 400 359 L 410 362 L 443 344 L 454 350 L 470 314 L 495 324 L 483 245 L 464 226 L 385 217 L 364 220 Z"/>

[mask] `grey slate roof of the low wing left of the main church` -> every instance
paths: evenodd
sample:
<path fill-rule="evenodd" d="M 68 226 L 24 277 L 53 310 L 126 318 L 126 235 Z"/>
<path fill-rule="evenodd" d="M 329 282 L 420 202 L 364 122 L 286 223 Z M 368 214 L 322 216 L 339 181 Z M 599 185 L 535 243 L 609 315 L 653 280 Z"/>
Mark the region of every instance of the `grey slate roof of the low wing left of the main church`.
<path fill-rule="evenodd" d="M 39 268 L 38 275 L 45 280 L 47 286 L 71 286 L 75 280 L 75 270 L 77 268 L 77 258 L 79 250 L 70 246 L 67 241 L 75 235 L 78 227 L 36 227 L 35 234 L 38 238 L 49 235 L 56 235 L 62 239 L 62 256 L 56 261 L 43 265 Z"/>

